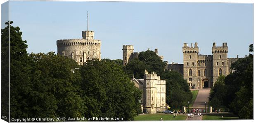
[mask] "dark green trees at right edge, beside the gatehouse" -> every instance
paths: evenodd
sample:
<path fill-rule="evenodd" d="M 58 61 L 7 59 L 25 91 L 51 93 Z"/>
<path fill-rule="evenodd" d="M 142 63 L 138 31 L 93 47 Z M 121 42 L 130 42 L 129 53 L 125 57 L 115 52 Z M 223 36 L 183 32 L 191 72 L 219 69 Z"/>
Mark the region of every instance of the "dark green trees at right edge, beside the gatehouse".
<path fill-rule="evenodd" d="M 249 51 L 252 52 L 253 45 L 250 44 Z M 223 77 L 211 90 L 209 100 L 216 107 L 228 107 L 234 114 L 242 119 L 253 118 L 253 55 L 239 58 L 231 64 L 233 70 L 223 81 Z M 223 83 L 224 82 L 224 83 Z"/>

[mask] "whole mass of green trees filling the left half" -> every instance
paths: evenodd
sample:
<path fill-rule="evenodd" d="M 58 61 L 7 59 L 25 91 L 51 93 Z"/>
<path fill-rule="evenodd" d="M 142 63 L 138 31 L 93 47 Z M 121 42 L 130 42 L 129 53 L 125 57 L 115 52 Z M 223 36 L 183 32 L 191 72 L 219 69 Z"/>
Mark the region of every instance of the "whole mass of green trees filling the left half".
<path fill-rule="evenodd" d="M 1 30 L 3 39 L 7 32 L 8 28 Z M 19 27 L 10 26 L 10 32 L 12 118 L 107 116 L 133 120 L 140 113 L 141 91 L 123 72 L 121 60 L 92 60 L 79 66 L 54 52 L 28 54 Z M 4 40 L 2 46 L 8 46 L 9 39 Z"/>

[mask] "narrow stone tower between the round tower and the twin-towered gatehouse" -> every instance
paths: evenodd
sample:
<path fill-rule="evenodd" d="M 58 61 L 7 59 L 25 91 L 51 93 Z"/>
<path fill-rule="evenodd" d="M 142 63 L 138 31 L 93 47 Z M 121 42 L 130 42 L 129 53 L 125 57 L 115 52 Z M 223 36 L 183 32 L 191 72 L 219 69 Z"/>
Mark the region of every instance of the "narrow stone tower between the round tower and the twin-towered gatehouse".
<path fill-rule="evenodd" d="M 123 45 L 123 66 L 126 66 L 127 63 L 132 59 L 132 53 L 134 50 L 133 45 Z"/>

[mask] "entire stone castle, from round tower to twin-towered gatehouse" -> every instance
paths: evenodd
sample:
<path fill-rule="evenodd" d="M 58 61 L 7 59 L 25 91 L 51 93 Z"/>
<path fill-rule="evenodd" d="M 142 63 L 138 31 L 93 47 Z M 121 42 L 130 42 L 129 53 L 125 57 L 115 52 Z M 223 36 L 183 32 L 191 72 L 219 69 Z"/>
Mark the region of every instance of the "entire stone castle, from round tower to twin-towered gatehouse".
<path fill-rule="evenodd" d="M 75 60 L 83 65 L 87 60 L 101 59 L 101 41 L 94 39 L 94 31 L 82 31 L 82 39 L 57 40 L 57 53 Z M 133 52 L 133 45 L 123 45 L 123 66 L 130 60 L 138 58 L 138 52 Z M 158 55 L 158 49 L 154 50 Z M 228 45 L 216 46 L 213 43 L 212 55 L 200 55 L 197 43 L 187 46 L 183 44 L 183 64 L 166 63 L 166 70 L 177 71 L 187 80 L 190 88 L 212 88 L 219 76 L 227 76 L 231 63 L 237 58 L 228 58 Z M 163 60 L 163 56 L 159 56 Z M 144 79 L 131 80 L 142 90 L 141 109 L 145 113 L 156 113 L 168 109 L 166 104 L 166 81 L 161 80 L 155 72 L 145 70 Z"/>

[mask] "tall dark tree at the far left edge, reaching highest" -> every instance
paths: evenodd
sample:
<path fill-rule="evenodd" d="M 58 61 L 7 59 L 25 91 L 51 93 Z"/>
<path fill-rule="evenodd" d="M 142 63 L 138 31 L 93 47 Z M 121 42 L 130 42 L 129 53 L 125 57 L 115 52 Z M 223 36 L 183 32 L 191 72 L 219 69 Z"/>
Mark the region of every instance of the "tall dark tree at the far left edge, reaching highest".
<path fill-rule="evenodd" d="M 30 65 L 31 58 L 28 57 L 26 51 L 28 46 L 26 40 L 22 40 L 22 32 L 19 31 L 19 27 L 9 25 L 12 23 L 12 21 L 5 23 L 8 26 L 1 30 L 1 35 L 3 35 L 2 42 L 4 43 L 1 44 L 7 49 L 7 46 L 10 45 L 10 116 L 14 118 L 22 118 L 28 117 L 30 114 L 28 113 L 29 108 L 27 104 L 29 100 L 26 97 L 33 89 L 31 86 L 32 67 Z M 9 38 L 7 36 L 9 34 L 10 42 L 8 41 Z M 8 54 L 5 54 L 3 57 L 8 57 Z"/>

